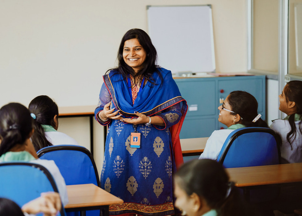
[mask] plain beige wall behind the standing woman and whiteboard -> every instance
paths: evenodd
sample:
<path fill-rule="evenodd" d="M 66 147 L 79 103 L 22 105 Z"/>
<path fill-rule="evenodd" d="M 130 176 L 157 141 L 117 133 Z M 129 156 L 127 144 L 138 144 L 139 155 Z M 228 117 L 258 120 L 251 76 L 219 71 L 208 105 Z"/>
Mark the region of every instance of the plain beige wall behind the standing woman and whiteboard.
<path fill-rule="evenodd" d="M 216 71 L 246 72 L 244 0 L 1 0 L 0 106 L 11 101 L 27 106 L 40 94 L 59 106 L 96 104 L 101 75 L 115 66 L 123 34 L 131 28 L 148 31 L 147 5 L 201 4 L 212 5 Z M 190 55 L 190 49 L 179 55 Z M 88 128 L 88 118 L 60 119 L 59 131 L 84 146 L 89 143 Z M 99 173 L 102 132 L 95 122 Z"/>

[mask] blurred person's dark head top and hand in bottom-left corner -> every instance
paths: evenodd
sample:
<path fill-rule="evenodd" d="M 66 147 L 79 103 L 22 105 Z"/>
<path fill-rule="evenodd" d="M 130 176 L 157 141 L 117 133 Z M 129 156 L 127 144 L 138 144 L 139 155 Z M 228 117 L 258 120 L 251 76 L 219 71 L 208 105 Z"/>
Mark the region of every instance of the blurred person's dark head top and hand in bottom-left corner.
<path fill-rule="evenodd" d="M 61 210 L 59 193 L 43 193 L 40 197 L 24 204 L 22 209 L 12 200 L 0 198 L 0 215 L 24 216 L 44 213 L 55 216 Z"/>

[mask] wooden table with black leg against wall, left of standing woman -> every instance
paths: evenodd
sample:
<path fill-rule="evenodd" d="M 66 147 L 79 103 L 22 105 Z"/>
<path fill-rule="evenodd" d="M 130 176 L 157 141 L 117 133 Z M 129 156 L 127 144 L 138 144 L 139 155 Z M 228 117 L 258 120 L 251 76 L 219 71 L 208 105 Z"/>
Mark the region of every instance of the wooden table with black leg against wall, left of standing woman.
<path fill-rule="evenodd" d="M 93 118 L 95 106 L 63 106 L 59 107 L 59 117 L 89 117 L 90 123 L 90 152 L 93 155 Z"/>

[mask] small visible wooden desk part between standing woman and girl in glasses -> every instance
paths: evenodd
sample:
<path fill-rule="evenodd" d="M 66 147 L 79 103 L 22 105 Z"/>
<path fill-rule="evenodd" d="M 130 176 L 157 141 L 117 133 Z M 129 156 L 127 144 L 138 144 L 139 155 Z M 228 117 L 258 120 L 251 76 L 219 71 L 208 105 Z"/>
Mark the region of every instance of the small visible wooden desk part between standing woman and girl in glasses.
<path fill-rule="evenodd" d="M 209 137 L 180 139 L 180 145 L 182 147 L 182 154 L 196 154 L 200 155 L 206 147 L 206 141 Z"/>

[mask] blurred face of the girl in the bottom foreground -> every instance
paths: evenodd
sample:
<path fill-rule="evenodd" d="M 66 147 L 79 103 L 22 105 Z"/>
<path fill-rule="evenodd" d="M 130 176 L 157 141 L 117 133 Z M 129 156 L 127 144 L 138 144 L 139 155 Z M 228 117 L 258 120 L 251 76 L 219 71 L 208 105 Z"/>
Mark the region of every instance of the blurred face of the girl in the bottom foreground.
<path fill-rule="evenodd" d="M 179 187 L 178 182 L 175 181 L 174 195 L 176 197 L 175 206 L 182 210 L 182 215 L 194 216 L 196 212 L 194 211 L 194 200 L 190 197 L 181 187 Z"/>

